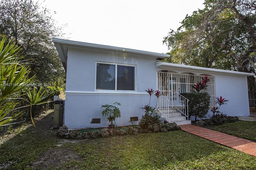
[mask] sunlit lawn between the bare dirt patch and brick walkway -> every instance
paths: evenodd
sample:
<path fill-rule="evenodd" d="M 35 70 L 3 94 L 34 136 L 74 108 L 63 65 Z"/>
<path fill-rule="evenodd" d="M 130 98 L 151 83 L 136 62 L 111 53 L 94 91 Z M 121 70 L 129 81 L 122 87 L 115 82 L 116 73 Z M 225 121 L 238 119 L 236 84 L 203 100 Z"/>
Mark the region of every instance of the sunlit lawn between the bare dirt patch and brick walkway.
<path fill-rule="evenodd" d="M 66 144 L 83 169 L 255 169 L 256 158 L 182 131 Z"/>

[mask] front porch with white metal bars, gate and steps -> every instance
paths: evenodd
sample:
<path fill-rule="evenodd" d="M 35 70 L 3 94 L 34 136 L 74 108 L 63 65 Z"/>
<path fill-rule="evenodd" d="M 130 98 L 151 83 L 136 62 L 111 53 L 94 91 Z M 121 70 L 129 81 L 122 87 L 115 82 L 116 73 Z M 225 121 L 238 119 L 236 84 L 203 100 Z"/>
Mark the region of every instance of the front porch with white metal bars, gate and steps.
<path fill-rule="evenodd" d="M 157 72 L 157 88 L 162 96 L 158 99 L 158 112 L 168 122 L 177 125 L 191 124 L 188 120 L 188 99 L 182 93 L 192 93 L 193 85 L 202 80 L 205 75 L 194 75 L 191 73 L 168 73 Z M 215 78 L 208 76 L 211 80 L 205 92 L 210 95 L 210 107 L 215 106 Z"/>

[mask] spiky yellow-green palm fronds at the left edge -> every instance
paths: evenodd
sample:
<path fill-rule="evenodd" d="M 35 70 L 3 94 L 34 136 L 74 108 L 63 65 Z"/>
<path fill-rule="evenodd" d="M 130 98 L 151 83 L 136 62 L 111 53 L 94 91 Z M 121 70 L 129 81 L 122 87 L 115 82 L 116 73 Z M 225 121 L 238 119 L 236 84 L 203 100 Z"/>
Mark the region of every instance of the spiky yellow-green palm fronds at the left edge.
<path fill-rule="evenodd" d="M 47 103 L 44 101 L 47 97 L 46 91 L 42 87 L 37 91 L 34 87 L 33 91 L 29 91 L 29 85 L 33 82 L 34 77 L 29 77 L 29 67 L 19 56 L 20 47 L 14 43 L 7 43 L 4 47 L 6 39 L 0 42 L 0 127 L 12 124 L 23 112 L 14 112 L 17 109 L 30 107 L 32 105 L 40 105 Z M 20 91 L 26 90 L 29 100 L 19 95 Z M 17 107 L 21 100 L 25 100 L 27 105 Z M 32 113 L 30 112 L 32 123 Z"/>

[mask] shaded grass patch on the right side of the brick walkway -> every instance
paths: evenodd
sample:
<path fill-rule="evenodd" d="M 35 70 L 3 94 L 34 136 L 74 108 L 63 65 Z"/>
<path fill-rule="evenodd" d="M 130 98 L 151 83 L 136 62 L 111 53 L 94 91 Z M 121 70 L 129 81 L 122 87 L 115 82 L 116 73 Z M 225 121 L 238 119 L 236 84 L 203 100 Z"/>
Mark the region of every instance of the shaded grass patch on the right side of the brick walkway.
<path fill-rule="evenodd" d="M 256 142 L 256 121 L 239 121 L 214 127 L 213 130 Z"/>

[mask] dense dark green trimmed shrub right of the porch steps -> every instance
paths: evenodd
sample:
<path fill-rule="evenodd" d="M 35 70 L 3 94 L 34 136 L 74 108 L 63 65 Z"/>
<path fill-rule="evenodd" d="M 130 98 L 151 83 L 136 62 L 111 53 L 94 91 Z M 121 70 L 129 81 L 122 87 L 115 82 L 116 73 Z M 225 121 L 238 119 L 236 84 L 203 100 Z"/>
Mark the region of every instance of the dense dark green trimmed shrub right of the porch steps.
<path fill-rule="evenodd" d="M 181 93 L 182 96 L 189 99 L 188 101 L 188 119 L 191 116 L 204 118 L 210 105 L 210 95 L 208 93 Z"/>

